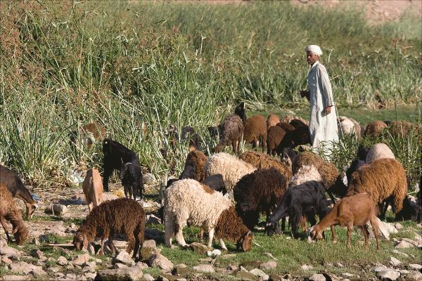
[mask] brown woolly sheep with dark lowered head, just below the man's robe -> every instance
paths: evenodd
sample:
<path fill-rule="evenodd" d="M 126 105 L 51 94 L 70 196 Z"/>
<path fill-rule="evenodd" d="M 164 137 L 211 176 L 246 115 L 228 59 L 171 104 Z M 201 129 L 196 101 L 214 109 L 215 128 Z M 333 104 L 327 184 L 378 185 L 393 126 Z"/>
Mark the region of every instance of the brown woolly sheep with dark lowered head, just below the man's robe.
<path fill-rule="evenodd" d="M 298 173 L 298 170 L 302 166 L 311 166 L 314 165 L 316 170 L 322 178 L 322 183 L 324 188 L 326 188 L 328 195 L 330 195 L 331 200 L 335 202 L 333 193 L 340 197 L 344 197 L 347 192 L 347 187 L 343 183 L 343 178 L 340 176 L 338 169 L 334 164 L 324 161 L 318 155 L 315 155 L 312 152 L 302 152 L 293 159 L 292 162 L 292 171 L 293 175 Z"/>

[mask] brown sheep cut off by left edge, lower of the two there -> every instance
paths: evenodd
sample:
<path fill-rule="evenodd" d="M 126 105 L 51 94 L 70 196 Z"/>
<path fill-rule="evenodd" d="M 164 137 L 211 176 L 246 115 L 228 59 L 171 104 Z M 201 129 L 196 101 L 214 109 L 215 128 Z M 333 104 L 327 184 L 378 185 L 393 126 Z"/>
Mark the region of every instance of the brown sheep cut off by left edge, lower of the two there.
<path fill-rule="evenodd" d="M 6 220 L 12 224 L 12 234 L 15 236 L 16 243 L 22 245 L 29 231 L 22 221 L 20 211 L 16 207 L 15 202 L 13 202 L 13 197 L 8 187 L 4 183 L 0 183 L 0 223 L 6 233 L 8 242 L 11 242 Z"/>

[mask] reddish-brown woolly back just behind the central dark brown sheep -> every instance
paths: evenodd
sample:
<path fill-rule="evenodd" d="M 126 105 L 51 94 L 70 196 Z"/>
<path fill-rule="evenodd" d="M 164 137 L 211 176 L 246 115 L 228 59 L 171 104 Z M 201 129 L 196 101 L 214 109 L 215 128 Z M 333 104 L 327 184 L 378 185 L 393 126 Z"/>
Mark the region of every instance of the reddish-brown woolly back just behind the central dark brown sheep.
<path fill-rule="evenodd" d="M 292 177 L 290 167 L 269 155 L 255 151 L 248 151 L 243 153 L 239 158 L 244 162 L 255 166 L 257 169 L 275 168 L 279 170 L 283 176 L 286 176 L 287 181 L 290 181 L 290 178 Z"/>

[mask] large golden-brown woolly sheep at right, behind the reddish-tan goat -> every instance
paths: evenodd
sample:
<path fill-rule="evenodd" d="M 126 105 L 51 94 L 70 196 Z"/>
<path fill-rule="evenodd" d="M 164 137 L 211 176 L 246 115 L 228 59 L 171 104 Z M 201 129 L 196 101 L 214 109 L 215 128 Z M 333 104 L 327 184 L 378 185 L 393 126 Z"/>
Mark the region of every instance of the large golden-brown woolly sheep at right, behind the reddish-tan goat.
<path fill-rule="evenodd" d="M 346 196 L 367 192 L 378 204 L 381 217 L 385 216 L 383 203 L 394 197 L 393 209 L 397 214 L 407 195 L 406 171 L 396 159 L 381 158 L 364 164 L 352 174 Z"/>

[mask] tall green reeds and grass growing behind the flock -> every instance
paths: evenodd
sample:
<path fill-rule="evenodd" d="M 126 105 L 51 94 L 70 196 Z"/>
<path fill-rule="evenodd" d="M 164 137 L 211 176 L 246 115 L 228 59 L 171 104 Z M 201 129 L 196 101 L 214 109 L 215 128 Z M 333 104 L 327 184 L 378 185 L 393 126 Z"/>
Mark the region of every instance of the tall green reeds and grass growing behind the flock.
<path fill-rule="evenodd" d="M 195 127 L 209 150 L 207 126 L 239 100 L 252 110 L 306 107 L 297 92 L 309 43 L 323 47 L 340 108 L 421 99 L 411 17 L 371 27 L 361 11 L 287 1 L 20 1 L 2 4 L 0 18 L 0 162 L 35 187 L 69 186 L 73 171 L 101 166 L 101 143 L 69 141 L 89 122 L 163 178 L 179 173 L 187 152 L 179 144 L 163 159 L 170 124 Z"/>

